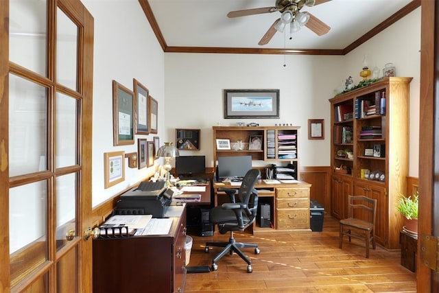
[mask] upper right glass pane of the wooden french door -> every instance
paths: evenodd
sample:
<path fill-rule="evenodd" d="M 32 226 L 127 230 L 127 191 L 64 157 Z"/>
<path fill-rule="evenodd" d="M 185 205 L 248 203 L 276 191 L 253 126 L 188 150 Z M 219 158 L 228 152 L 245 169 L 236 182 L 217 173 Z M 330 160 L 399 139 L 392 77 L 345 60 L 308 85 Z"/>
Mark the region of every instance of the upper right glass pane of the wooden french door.
<path fill-rule="evenodd" d="M 56 82 L 76 91 L 78 27 L 60 8 L 56 17 Z"/>

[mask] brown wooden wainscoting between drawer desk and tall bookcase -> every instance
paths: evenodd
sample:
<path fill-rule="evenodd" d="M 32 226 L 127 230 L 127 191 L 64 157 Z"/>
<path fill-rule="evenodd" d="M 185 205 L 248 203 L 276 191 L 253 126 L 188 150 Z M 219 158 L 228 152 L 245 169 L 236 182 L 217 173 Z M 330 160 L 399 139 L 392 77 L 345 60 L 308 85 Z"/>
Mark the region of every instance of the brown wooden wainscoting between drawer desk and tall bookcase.
<path fill-rule="evenodd" d="M 324 212 L 331 215 L 331 167 L 301 167 L 299 179 L 312 184 L 311 200 L 317 200 Z"/>

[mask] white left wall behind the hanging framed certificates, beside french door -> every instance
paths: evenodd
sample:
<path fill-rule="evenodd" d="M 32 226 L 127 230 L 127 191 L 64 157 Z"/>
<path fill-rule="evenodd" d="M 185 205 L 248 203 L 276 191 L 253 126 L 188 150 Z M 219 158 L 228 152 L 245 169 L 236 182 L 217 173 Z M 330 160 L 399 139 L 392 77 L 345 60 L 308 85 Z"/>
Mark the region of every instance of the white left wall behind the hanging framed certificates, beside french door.
<path fill-rule="evenodd" d="M 137 139 L 161 137 L 165 119 L 164 53 L 137 0 L 85 0 L 95 19 L 93 77 L 93 207 L 153 173 L 132 169 L 125 160 L 125 181 L 104 189 L 104 152 L 137 152 Z M 133 89 L 136 78 L 158 101 L 158 134 L 136 135 L 134 145 L 113 146 L 112 80 Z M 163 140 L 161 140 L 163 142 Z M 156 165 L 160 163 L 157 160 Z"/>

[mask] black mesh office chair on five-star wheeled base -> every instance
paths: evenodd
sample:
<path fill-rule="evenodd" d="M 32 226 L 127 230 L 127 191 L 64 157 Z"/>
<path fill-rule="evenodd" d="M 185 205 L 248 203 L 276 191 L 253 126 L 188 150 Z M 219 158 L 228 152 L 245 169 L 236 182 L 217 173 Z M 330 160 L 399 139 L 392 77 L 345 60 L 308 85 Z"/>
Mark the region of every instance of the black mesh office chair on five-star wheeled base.
<path fill-rule="evenodd" d="M 256 219 L 258 209 L 258 194 L 254 189 L 254 184 L 259 178 L 261 172 L 257 169 L 248 170 L 246 176 L 242 180 L 241 187 L 239 189 L 221 188 L 218 191 L 224 191 L 230 197 L 230 202 L 222 204 L 220 207 L 214 207 L 211 209 L 209 219 L 212 224 L 218 225 L 218 231 L 221 234 L 226 234 L 230 231 L 230 238 L 228 242 L 207 242 L 205 251 L 209 252 L 209 246 L 224 247 L 212 261 L 212 270 L 217 270 L 217 261 L 224 257 L 226 253 L 233 255 L 233 252 L 237 253 L 241 259 L 244 259 L 247 266 L 247 272 L 252 272 L 252 262 L 239 248 L 254 248 L 254 253 L 259 255 L 261 252 L 257 244 L 249 244 L 236 242 L 233 237 L 233 231 L 244 231 L 245 228 L 253 224 Z M 235 194 L 237 199 L 235 200 Z"/>

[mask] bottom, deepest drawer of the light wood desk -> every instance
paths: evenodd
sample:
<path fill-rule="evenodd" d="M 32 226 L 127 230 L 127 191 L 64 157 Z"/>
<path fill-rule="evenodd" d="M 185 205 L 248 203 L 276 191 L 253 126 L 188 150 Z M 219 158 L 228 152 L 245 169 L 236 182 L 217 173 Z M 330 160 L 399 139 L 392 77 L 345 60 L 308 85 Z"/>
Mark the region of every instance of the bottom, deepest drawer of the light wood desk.
<path fill-rule="evenodd" d="M 278 229 L 309 229 L 308 209 L 277 209 Z"/>

